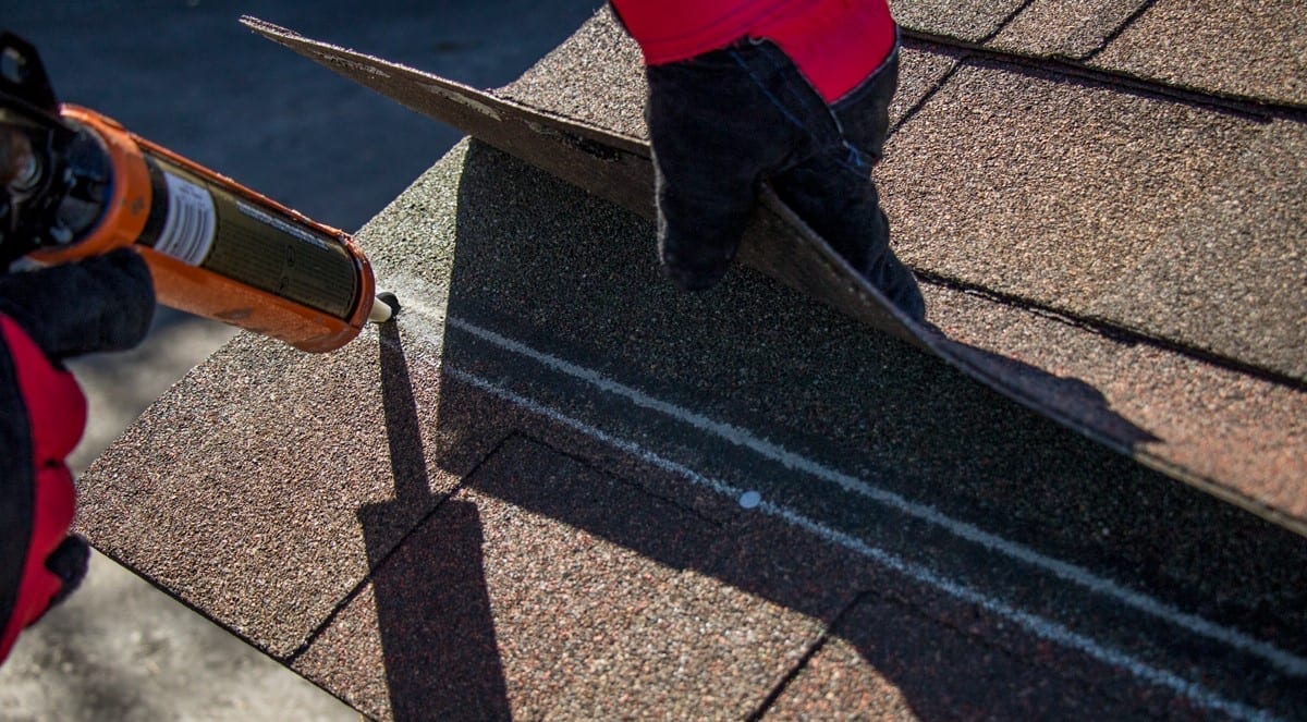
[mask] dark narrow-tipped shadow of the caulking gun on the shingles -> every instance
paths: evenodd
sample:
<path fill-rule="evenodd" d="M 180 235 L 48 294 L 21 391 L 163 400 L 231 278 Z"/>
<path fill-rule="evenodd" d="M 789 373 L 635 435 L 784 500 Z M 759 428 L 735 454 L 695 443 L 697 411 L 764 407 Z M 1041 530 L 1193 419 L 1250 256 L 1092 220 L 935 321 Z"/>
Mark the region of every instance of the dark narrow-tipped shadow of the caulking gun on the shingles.
<path fill-rule="evenodd" d="M 372 569 L 395 719 L 510 717 L 472 502 L 433 500 L 417 403 L 396 324 L 380 326 L 382 398 L 395 498 L 358 510 Z M 404 507 L 437 507 L 399 547 Z M 393 549 L 393 551 L 392 551 Z"/>

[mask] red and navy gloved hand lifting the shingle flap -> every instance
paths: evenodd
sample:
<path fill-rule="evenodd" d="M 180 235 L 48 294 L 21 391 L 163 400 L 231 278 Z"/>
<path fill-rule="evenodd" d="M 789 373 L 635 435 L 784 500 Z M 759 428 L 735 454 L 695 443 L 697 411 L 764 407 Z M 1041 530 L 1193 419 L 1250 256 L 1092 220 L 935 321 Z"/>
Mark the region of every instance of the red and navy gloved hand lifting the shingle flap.
<path fill-rule="evenodd" d="M 759 183 L 921 320 L 890 249 L 872 165 L 898 86 L 885 0 L 613 0 L 646 59 L 659 255 L 681 288 L 716 284 Z"/>

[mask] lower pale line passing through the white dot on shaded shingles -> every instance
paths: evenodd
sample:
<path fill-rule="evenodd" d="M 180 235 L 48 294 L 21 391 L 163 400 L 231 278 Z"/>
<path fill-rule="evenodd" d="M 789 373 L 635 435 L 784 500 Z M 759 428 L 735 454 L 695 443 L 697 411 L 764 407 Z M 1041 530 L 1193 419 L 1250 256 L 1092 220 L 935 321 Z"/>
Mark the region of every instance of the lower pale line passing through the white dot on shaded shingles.
<path fill-rule="evenodd" d="M 498 396 L 535 415 L 544 416 L 550 421 L 554 421 L 555 424 L 567 426 L 575 432 L 595 438 L 603 443 L 618 449 L 620 451 L 630 454 L 631 456 L 650 466 L 661 468 L 682 479 L 686 479 L 687 481 L 695 485 L 712 489 L 714 492 L 729 498 L 738 498 L 738 496 L 741 494 L 741 490 L 732 487 L 731 484 L 707 477 L 694 471 L 693 468 L 689 468 L 684 464 L 667 459 L 659 455 L 657 453 L 640 446 L 639 443 L 608 434 L 595 426 L 591 426 L 589 424 L 586 424 L 584 421 L 572 419 L 571 416 L 567 416 L 561 411 L 546 407 L 541 403 L 537 403 L 533 399 L 521 396 L 514 391 L 510 391 L 478 375 L 471 374 L 468 371 L 448 365 L 446 365 L 444 371 L 450 377 L 457 381 L 481 388 L 488 394 Z M 1050 642 L 1065 647 L 1074 649 L 1107 666 L 1124 670 L 1125 672 L 1133 675 L 1136 679 L 1144 680 L 1157 687 L 1163 687 L 1166 689 L 1170 689 L 1176 695 L 1187 697 L 1189 701 L 1192 701 L 1193 704 L 1196 704 L 1202 709 L 1206 709 L 1209 712 L 1219 712 L 1222 714 L 1227 714 L 1236 719 L 1248 719 L 1248 721 L 1278 719 L 1276 715 L 1270 714 L 1266 710 L 1252 708 L 1233 700 L 1227 700 L 1222 697 L 1219 693 L 1213 692 L 1200 684 L 1185 680 L 1166 670 L 1157 668 L 1117 649 L 1104 646 L 1098 641 L 1093 640 L 1091 637 L 1073 632 L 1061 624 L 1026 612 L 1023 610 L 1014 608 L 1010 604 L 1002 602 L 1001 599 L 989 596 L 982 591 L 978 591 L 967 586 L 966 583 L 954 582 L 951 579 L 941 577 L 940 574 L 925 566 L 904 561 L 903 559 L 890 552 L 886 552 L 877 547 L 872 547 L 870 544 L 855 536 L 850 536 L 844 532 L 831 530 L 821 524 L 819 522 L 809 519 L 791 509 L 779 506 L 772 502 L 763 502 L 757 507 L 757 510 L 767 515 L 783 519 L 793 526 L 797 526 L 808 531 L 809 534 L 825 539 L 827 543 L 844 547 L 846 549 L 850 549 L 863 557 L 867 557 L 877 564 L 881 564 L 882 566 L 886 566 L 916 582 L 928 585 L 962 602 L 979 606 L 985 611 L 1016 624 L 1017 627 L 1025 629 L 1026 632 L 1029 632 L 1035 637 L 1047 640 Z"/>

